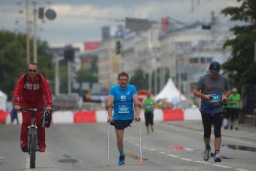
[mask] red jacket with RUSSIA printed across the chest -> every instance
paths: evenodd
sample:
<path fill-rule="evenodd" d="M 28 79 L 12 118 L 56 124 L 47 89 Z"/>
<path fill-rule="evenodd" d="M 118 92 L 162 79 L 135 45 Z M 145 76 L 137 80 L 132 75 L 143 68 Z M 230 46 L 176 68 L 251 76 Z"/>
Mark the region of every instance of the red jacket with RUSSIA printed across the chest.
<path fill-rule="evenodd" d="M 52 93 L 45 77 L 41 75 L 41 83 L 36 76 L 34 82 L 28 75 L 27 82 L 23 82 L 23 74 L 14 88 L 14 104 L 20 105 L 22 108 L 43 108 L 45 102 L 47 106 L 52 106 Z"/>

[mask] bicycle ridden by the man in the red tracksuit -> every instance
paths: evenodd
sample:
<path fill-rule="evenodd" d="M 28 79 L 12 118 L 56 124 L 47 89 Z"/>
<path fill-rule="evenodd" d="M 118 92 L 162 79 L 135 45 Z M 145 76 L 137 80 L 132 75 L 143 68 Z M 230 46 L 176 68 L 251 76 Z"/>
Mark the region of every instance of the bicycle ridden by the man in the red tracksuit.
<path fill-rule="evenodd" d="M 31 125 L 28 126 L 28 154 L 30 154 L 30 169 L 33 169 L 36 167 L 36 151 L 39 151 L 35 113 L 36 111 L 40 111 L 43 113 L 45 110 L 39 108 L 21 108 L 21 111 L 24 113 L 31 113 Z"/>

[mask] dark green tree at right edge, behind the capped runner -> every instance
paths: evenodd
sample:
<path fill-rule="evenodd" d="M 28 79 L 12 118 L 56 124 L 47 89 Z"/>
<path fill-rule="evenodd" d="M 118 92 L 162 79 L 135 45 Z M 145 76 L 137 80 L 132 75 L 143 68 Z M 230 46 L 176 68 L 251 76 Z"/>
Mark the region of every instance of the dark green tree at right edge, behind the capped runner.
<path fill-rule="evenodd" d="M 222 65 L 234 87 L 256 84 L 256 63 L 254 62 L 254 43 L 256 42 L 256 1 L 237 0 L 240 7 L 227 7 L 222 10 L 231 20 L 239 20 L 244 25 L 237 25 L 230 30 L 236 37 L 226 40 L 223 47 L 231 46 L 231 58 Z"/>

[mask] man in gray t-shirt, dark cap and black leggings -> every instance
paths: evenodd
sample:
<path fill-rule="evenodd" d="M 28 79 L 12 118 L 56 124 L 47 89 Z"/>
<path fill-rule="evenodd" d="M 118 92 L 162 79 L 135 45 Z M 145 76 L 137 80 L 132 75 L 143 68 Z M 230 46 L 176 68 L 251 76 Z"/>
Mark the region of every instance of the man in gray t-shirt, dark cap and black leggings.
<path fill-rule="evenodd" d="M 219 156 L 221 145 L 221 126 L 223 108 L 222 103 L 226 102 L 226 99 L 231 93 L 230 84 L 226 76 L 220 75 L 220 64 L 217 61 L 213 61 L 210 64 L 208 74 L 201 76 L 196 84 L 194 95 L 202 99 L 201 101 L 201 116 L 204 126 L 204 160 L 207 161 L 210 158 L 210 136 L 211 136 L 211 124 L 214 125 L 214 148 L 215 155 L 214 161 L 220 162 Z M 222 96 L 224 93 L 224 96 Z"/>

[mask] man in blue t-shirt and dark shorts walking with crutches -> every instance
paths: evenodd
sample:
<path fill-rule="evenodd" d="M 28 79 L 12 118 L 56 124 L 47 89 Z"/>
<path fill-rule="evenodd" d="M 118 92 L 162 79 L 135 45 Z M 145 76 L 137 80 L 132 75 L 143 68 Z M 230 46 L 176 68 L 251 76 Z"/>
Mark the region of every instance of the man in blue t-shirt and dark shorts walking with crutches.
<path fill-rule="evenodd" d="M 134 85 L 128 84 L 129 76 L 125 72 L 118 75 L 118 83 L 113 85 L 108 98 L 108 122 L 116 130 L 117 148 L 119 149 L 119 164 L 125 164 L 125 154 L 123 153 L 123 132 L 130 126 L 134 119 L 140 121 L 140 103 L 137 96 L 137 90 Z M 114 108 L 114 114 L 113 113 Z"/>

